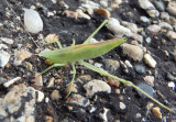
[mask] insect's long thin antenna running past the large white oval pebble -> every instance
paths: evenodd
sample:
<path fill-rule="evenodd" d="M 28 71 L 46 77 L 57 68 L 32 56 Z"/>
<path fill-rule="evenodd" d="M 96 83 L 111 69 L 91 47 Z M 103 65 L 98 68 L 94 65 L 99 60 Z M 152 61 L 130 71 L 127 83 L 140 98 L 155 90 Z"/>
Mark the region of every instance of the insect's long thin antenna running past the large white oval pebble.
<path fill-rule="evenodd" d="M 11 11 L 14 13 L 14 15 L 15 16 L 18 16 L 16 14 L 15 14 L 15 12 L 13 11 L 13 8 L 11 7 L 11 4 L 6 0 L 6 2 L 7 2 L 7 4 L 8 4 L 8 7 L 11 9 Z M 21 20 L 19 20 L 20 21 L 20 24 L 23 26 L 23 29 L 24 29 L 24 31 L 28 33 L 28 35 L 31 37 L 31 40 L 33 41 L 33 43 L 36 45 L 36 47 L 37 48 L 40 48 L 40 51 L 42 51 L 41 49 L 41 47 L 36 44 L 36 42 L 34 41 L 34 38 L 32 37 L 32 35 L 30 34 L 30 32 L 25 29 L 25 26 L 24 26 L 24 24 L 22 23 L 22 21 Z"/>

